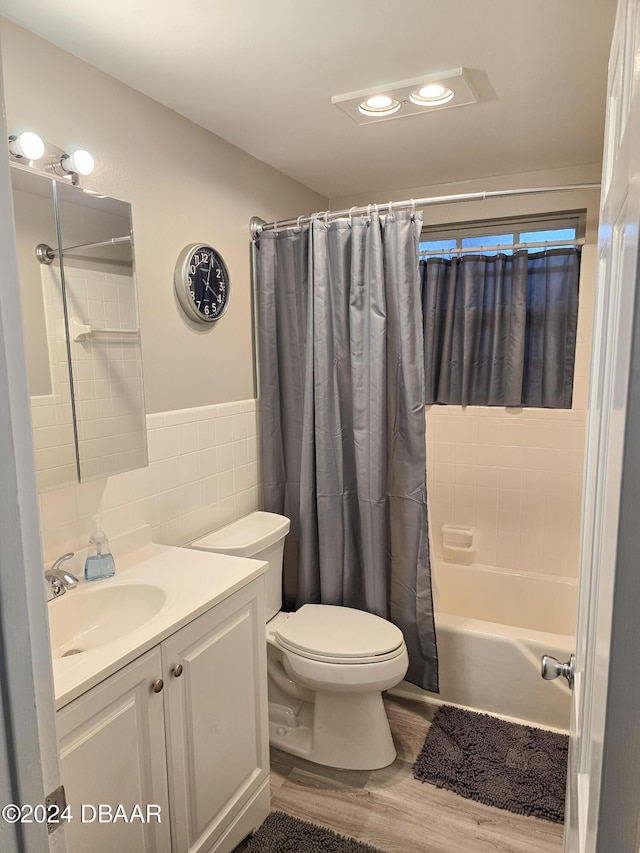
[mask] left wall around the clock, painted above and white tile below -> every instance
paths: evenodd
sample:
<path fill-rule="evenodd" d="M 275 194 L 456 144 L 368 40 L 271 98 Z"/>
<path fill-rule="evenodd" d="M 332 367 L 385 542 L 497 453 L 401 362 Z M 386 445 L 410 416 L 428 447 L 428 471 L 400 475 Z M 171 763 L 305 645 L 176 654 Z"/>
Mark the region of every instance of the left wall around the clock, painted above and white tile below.
<path fill-rule="evenodd" d="M 110 536 L 147 523 L 183 544 L 260 503 L 249 220 L 327 201 L 14 24 L 0 37 L 10 130 L 87 148 L 96 171 L 83 186 L 133 211 L 150 465 L 41 494 L 45 560 L 83 547 L 97 512 Z M 231 275 L 213 328 L 187 320 L 173 289 L 179 252 L 200 240 Z"/>

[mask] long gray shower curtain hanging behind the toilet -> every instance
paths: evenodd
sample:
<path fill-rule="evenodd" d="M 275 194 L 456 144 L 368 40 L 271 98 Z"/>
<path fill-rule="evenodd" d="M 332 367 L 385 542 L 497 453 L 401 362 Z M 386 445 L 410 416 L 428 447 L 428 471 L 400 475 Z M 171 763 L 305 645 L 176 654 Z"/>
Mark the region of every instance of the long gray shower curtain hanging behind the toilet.
<path fill-rule="evenodd" d="M 261 235 L 265 509 L 291 519 L 296 604 L 398 625 L 438 689 L 427 527 L 421 216 Z"/>

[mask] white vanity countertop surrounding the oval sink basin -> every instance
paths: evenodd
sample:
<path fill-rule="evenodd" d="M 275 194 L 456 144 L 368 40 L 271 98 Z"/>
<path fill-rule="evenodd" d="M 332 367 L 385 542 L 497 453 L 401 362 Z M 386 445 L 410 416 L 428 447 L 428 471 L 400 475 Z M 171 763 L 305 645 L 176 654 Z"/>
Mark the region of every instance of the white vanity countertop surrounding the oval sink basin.
<path fill-rule="evenodd" d="M 115 576 L 92 583 L 82 581 L 76 589 L 66 592 L 65 597 L 90 594 L 98 587 L 151 584 L 164 592 L 164 605 L 149 621 L 123 637 L 81 654 L 54 658 L 56 710 L 264 575 L 267 568 L 260 560 L 174 548 L 144 540 L 145 534 L 138 532 L 126 541 L 126 547 L 121 545 L 119 549 L 114 541 Z M 64 568 L 69 567 L 80 576 L 83 565 L 84 557 L 78 553 L 74 561 L 64 564 Z M 55 599 L 49 602 L 49 613 L 58 604 Z"/>

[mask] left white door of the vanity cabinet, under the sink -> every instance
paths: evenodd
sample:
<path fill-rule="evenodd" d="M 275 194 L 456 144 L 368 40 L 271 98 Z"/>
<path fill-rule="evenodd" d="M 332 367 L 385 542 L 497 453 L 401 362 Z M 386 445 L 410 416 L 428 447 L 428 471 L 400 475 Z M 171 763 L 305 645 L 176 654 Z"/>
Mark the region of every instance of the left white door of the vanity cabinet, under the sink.
<path fill-rule="evenodd" d="M 152 686 L 161 676 L 157 648 L 58 712 L 60 771 L 72 816 L 65 826 L 68 853 L 171 850 L 164 709 Z M 140 806 L 144 821 L 116 820 L 118 805 L 128 818 Z M 147 806 L 158 807 L 150 822 Z M 158 810 L 160 822 L 153 817 Z"/>

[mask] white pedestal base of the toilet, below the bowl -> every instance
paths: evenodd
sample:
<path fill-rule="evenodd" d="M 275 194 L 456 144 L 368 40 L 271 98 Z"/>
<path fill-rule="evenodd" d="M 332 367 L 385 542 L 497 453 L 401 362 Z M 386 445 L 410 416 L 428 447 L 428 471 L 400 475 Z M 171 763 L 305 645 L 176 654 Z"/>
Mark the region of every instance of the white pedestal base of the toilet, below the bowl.
<path fill-rule="evenodd" d="M 396 758 L 380 692 L 318 691 L 295 709 L 270 702 L 269 743 L 342 770 L 379 770 Z"/>

